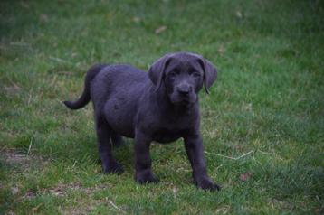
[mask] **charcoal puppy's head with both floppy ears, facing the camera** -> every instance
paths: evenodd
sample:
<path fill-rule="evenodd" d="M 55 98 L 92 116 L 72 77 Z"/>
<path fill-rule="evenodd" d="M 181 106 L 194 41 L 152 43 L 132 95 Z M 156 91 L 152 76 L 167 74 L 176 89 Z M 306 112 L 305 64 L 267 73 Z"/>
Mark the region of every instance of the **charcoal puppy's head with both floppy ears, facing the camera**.
<path fill-rule="evenodd" d="M 190 52 L 167 54 L 148 70 L 149 79 L 156 86 L 165 85 L 173 104 L 188 104 L 197 101 L 197 93 L 205 86 L 208 89 L 217 78 L 214 65 L 202 56 Z"/>

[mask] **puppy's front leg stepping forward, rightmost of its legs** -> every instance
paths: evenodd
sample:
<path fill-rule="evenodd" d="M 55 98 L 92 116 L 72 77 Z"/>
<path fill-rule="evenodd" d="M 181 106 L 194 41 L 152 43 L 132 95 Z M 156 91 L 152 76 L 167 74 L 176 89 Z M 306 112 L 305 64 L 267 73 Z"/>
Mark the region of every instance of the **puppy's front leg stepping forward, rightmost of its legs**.
<path fill-rule="evenodd" d="M 204 147 L 201 136 L 190 135 L 186 136 L 184 139 L 186 154 L 188 155 L 191 167 L 193 168 L 195 184 L 204 190 L 220 190 L 220 187 L 212 182 L 207 175 L 204 159 Z"/>

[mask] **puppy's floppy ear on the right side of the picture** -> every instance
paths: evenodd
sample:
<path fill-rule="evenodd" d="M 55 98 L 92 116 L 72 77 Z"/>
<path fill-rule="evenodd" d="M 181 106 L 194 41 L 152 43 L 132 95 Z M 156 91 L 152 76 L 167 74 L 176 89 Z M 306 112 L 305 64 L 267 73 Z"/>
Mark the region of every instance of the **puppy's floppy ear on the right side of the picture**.
<path fill-rule="evenodd" d="M 209 94 L 209 89 L 213 85 L 214 81 L 217 79 L 217 70 L 214 67 L 213 63 L 205 60 L 204 57 L 196 55 L 201 67 L 204 70 L 204 86 L 205 92 Z"/>

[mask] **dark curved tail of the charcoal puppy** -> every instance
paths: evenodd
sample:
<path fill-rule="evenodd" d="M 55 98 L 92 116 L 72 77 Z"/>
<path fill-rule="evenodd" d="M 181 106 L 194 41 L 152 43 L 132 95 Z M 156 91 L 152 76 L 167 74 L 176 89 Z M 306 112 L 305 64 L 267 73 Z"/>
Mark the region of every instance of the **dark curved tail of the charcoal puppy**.
<path fill-rule="evenodd" d="M 96 77 L 96 75 L 100 72 L 100 70 L 102 70 L 102 68 L 104 68 L 106 66 L 107 65 L 103 65 L 103 64 L 97 64 L 97 65 L 92 66 L 91 69 L 88 70 L 87 75 L 85 77 L 84 90 L 82 92 L 81 97 L 76 101 L 63 101 L 64 105 L 71 109 L 79 109 L 79 108 L 83 108 L 84 106 L 86 106 L 91 99 L 91 96 L 90 96 L 91 80 L 94 79 L 94 77 Z"/>

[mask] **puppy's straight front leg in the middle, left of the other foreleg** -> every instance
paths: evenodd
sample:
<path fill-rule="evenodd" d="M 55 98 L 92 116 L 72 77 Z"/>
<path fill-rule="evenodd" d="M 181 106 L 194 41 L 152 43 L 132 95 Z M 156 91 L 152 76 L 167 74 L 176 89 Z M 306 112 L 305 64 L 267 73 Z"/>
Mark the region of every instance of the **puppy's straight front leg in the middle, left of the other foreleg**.
<path fill-rule="evenodd" d="M 151 169 L 149 156 L 150 138 L 141 131 L 135 136 L 135 180 L 139 183 L 158 182 Z"/>

